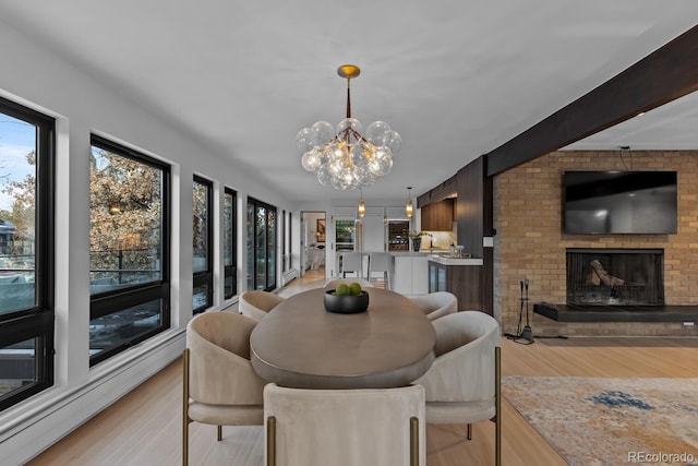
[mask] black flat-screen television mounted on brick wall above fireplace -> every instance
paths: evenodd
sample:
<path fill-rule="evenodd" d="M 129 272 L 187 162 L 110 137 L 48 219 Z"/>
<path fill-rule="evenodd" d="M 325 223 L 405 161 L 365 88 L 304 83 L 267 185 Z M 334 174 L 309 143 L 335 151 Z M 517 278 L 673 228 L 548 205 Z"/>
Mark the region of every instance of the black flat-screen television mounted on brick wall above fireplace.
<path fill-rule="evenodd" d="M 676 171 L 565 171 L 566 234 L 675 234 Z"/>

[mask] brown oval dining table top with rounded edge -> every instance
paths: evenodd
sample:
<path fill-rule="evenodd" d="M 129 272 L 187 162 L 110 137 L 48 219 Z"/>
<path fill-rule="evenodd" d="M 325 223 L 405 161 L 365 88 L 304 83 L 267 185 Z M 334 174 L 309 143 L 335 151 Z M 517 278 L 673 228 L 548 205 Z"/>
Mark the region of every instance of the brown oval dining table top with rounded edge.
<path fill-rule="evenodd" d="M 364 312 L 325 310 L 325 288 L 288 298 L 250 336 L 257 374 L 297 389 L 387 389 L 409 385 L 434 360 L 436 333 L 407 297 L 369 288 Z"/>

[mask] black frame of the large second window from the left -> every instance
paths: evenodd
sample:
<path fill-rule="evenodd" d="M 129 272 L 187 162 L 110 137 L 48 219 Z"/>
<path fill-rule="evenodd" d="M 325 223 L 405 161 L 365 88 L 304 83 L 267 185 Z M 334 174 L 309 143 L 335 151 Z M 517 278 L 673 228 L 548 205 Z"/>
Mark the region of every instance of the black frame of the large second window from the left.
<path fill-rule="evenodd" d="M 89 321 L 108 315 L 120 310 L 127 310 L 134 306 L 143 304 L 156 299 L 161 300 L 161 324 L 148 332 L 139 334 L 137 336 L 123 342 L 120 345 L 89 356 L 89 367 L 103 362 L 119 353 L 125 351 L 133 345 L 142 343 L 158 333 L 161 333 L 171 325 L 171 302 L 170 302 L 170 210 L 171 210 L 171 167 L 160 160 L 149 157 L 139 151 L 127 147 L 122 144 L 110 141 L 98 134 L 91 134 L 91 150 L 93 146 L 109 151 L 112 154 L 130 158 L 137 163 L 148 165 L 153 168 L 161 170 L 163 188 L 161 188 L 161 276 L 159 280 L 135 284 L 124 288 L 115 290 L 91 294 L 89 296 Z"/>

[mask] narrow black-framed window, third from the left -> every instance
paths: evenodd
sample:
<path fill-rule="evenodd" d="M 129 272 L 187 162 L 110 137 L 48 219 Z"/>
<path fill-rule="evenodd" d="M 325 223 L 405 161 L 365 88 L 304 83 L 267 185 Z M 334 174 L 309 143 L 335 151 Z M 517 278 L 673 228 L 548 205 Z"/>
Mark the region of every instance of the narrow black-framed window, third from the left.
<path fill-rule="evenodd" d="M 194 272 L 193 309 L 203 312 L 214 304 L 214 263 L 212 244 L 214 242 L 213 183 L 194 176 L 193 211 L 193 255 Z"/>

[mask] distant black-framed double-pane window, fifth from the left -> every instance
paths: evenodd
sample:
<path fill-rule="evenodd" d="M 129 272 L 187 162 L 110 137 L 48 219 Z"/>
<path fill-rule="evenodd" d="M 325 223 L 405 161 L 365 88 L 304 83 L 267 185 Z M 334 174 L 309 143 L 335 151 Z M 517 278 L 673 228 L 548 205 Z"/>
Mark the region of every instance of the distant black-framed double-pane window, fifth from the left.
<path fill-rule="evenodd" d="M 276 288 L 276 207 L 248 198 L 248 289 Z"/>

